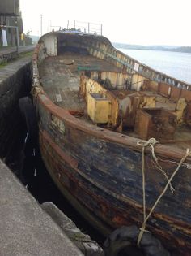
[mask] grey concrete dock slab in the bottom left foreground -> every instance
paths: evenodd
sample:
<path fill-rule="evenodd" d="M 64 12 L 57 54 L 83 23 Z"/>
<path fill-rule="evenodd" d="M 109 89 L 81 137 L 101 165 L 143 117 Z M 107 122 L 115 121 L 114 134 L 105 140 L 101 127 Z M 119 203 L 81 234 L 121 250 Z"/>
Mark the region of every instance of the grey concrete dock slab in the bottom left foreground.
<path fill-rule="evenodd" d="M 0 160 L 0 255 L 83 255 Z"/>

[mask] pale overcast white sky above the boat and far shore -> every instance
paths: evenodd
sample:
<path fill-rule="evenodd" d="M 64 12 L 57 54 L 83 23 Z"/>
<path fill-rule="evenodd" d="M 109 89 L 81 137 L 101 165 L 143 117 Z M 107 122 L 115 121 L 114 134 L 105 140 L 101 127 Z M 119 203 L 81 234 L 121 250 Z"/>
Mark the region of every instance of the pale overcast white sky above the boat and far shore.
<path fill-rule="evenodd" d="M 42 15 L 42 33 L 76 20 L 103 24 L 110 41 L 136 45 L 191 46 L 190 6 L 191 0 L 20 0 L 24 33 L 40 36 Z"/>

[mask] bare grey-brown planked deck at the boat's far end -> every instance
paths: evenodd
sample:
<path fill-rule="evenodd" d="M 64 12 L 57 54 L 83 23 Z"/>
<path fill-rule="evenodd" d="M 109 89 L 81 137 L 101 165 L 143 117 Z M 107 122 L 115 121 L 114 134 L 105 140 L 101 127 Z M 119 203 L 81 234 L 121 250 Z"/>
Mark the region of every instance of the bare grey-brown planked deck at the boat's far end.
<path fill-rule="evenodd" d="M 49 98 L 67 110 L 80 111 L 85 102 L 79 97 L 79 70 L 121 72 L 121 69 L 91 55 L 69 53 L 48 57 L 40 65 L 40 80 Z"/>

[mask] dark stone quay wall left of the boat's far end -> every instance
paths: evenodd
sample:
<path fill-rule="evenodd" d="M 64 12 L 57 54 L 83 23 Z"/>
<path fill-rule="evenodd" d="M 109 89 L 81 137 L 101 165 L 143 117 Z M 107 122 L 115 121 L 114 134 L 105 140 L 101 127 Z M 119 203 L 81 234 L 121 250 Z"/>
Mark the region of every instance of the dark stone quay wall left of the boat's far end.
<path fill-rule="evenodd" d="M 18 59 L 0 68 L 0 158 L 7 158 L 19 132 L 19 98 L 31 89 L 31 57 Z"/>

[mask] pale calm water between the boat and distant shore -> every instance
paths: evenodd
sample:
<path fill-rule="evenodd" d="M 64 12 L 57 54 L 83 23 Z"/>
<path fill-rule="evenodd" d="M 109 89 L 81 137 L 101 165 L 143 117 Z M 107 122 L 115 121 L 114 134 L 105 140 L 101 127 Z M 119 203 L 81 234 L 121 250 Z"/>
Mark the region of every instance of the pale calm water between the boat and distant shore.
<path fill-rule="evenodd" d="M 191 84 L 191 54 L 163 50 L 118 50 L 159 72 Z"/>

